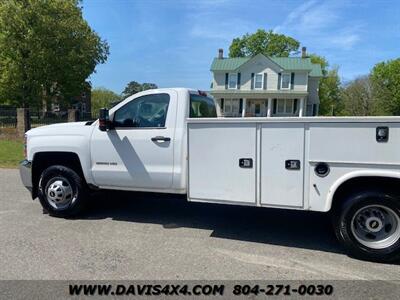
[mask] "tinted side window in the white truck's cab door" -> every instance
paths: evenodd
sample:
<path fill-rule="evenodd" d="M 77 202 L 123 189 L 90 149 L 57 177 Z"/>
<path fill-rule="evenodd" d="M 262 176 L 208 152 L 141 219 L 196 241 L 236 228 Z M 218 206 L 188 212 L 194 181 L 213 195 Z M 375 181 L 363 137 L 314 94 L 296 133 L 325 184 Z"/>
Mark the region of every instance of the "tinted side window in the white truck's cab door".
<path fill-rule="evenodd" d="M 168 94 L 136 98 L 115 112 L 114 127 L 165 127 L 168 105 Z"/>

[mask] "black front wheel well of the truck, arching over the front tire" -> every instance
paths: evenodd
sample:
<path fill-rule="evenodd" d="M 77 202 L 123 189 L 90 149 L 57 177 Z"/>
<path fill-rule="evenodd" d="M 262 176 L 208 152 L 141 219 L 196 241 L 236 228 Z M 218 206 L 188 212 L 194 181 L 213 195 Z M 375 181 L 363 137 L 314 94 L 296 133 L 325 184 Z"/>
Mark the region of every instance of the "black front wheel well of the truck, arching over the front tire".
<path fill-rule="evenodd" d="M 62 165 L 71 168 L 84 180 L 81 162 L 73 152 L 39 152 L 32 160 L 32 198 L 37 197 L 39 178 L 42 172 L 50 166 Z"/>

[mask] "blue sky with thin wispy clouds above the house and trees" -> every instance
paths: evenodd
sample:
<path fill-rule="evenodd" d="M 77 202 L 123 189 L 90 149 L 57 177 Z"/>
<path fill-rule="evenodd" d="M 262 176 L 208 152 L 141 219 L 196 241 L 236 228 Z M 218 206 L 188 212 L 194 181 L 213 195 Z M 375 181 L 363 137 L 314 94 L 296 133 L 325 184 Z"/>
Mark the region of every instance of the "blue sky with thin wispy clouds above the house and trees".
<path fill-rule="evenodd" d="M 400 1 L 83 0 L 110 46 L 90 81 L 121 93 L 129 81 L 208 90 L 218 48 L 257 29 L 297 39 L 338 66 L 343 82 L 400 57 Z"/>

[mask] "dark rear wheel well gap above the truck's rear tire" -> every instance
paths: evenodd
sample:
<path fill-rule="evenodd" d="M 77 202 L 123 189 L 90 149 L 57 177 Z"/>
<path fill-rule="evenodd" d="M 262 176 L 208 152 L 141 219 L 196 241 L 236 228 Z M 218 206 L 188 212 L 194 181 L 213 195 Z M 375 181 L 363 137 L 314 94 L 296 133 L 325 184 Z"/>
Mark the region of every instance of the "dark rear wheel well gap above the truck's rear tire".
<path fill-rule="evenodd" d="M 360 190 L 379 189 L 384 191 L 400 191 L 400 178 L 365 176 L 355 177 L 343 182 L 335 191 L 332 198 L 332 209 L 341 206 L 345 196 Z"/>

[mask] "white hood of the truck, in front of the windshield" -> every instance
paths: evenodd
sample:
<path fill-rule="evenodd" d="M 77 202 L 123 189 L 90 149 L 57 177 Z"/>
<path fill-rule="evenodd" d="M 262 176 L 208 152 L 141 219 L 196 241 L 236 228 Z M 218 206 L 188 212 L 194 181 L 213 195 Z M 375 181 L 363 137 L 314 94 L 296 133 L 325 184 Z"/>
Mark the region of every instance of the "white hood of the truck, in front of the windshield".
<path fill-rule="evenodd" d="M 38 135 L 86 135 L 92 131 L 93 124 L 88 122 L 58 123 L 33 128 L 26 132 L 28 136 Z"/>

